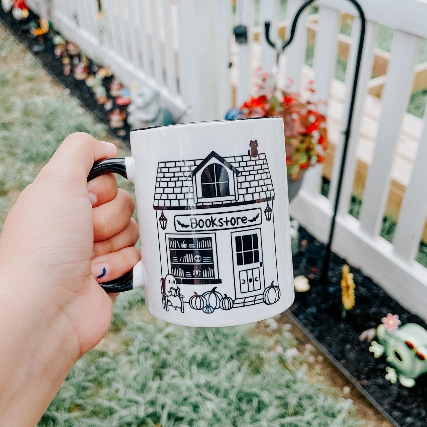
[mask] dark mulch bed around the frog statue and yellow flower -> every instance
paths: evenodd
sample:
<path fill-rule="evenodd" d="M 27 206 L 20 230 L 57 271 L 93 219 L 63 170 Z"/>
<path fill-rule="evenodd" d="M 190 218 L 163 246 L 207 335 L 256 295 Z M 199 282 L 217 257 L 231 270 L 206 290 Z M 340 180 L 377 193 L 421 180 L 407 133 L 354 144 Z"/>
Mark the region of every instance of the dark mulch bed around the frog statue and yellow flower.
<path fill-rule="evenodd" d="M 303 240 L 307 240 L 306 246 L 301 245 Z M 369 342 L 359 341 L 360 333 L 376 328 L 387 313 L 398 314 L 402 324 L 413 322 L 427 329 L 426 323 L 354 268 L 351 272 L 357 290 L 356 305 L 343 320 L 340 282 L 345 260 L 332 254 L 325 289 L 320 282 L 324 253 L 325 245 L 300 228 L 294 276 L 308 277 L 311 288 L 308 292 L 295 292 L 290 310 L 401 427 L 427 426 L 427 374 L 419 377 L 411 389 L 399 382 L 392 384 L 384 378 L 389 366 L 385 357 L 375 359 L 368 350 Z"/>

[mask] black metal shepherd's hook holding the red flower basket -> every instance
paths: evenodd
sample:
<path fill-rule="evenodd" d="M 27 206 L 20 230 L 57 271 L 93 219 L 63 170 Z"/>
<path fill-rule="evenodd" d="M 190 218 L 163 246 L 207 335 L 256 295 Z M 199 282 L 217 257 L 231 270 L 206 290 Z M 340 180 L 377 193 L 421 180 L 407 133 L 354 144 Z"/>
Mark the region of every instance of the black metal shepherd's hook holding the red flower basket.
<path fill-rule="evenodd" d="M 278 61 L 280 53 L 283 52 L 285 50 L 285 48 L 292 43 L 292 40 L 295 36 L 296 24 L 297 24 L 298 18 L 301 16 L 301 13 L 304 11 L 304 9 L 309 4 L 313 3 L 314 1 L 315 0 L 307 0 L 306 2 L 304 2 L 301 5 L 301 7 L 298 9 L 298 12 L 296 12 L 295 18 L 292 21 L 290 37 L 281 47 L 281 51 L 278 50 L 277 61 Z M 357 50 L 356 67 L 354 70 L 353 89 L 351 91 L 351 101 L 350 101 L 350 107 L 348 109 L 347 129 L 345 129 L 345 131 L 344 131 L 345 138 L 344 138 L 344 144 L 342 146 L 342 158 L 341 158 L 341 164 L 339 167 L 339 176 L 338 176 L 338 183 L 337 183 L 337 187 L 336 187 L 335 202 L 334 202 L 334 206 L 333 206 L 333 216 L 332 216 L 332 221 L 330 224 L 329 240 L 328 240 L 328 245 L 326 246 L 325 257 L 323 259 L 322 283 L 325 287 L 326 287 L 326 283 L 327 283 L 327 279 L 328 279 L 328 271 L 329 271 L 330 253 L 331 253 L 332 240 L 333 240 L 333 232 L 335 231 L 336 213 L 338 212 L 339 197 L 341 196 L 342 178 L 344 176 L 345 160 L 347 158 L 348 141 L 350 139 L 351 121 L 353 120 L 354 101 L 356 99 L 357 82 L 359 80 L 360 62 L 362 60 L 363 42 L 365 40 L 365 28 L 366 28 L 366 19 L 365 19 L 365 14 L 363 13 L 362 7 L 360 6 L 360 4 L 356 0 L 348 0 L 348 1 L 353 3 L 357 9 L 357 12 L 359 12 L 360 37 L 359 37 L 359 48 Z M 270 22 L 266 22 L 265 23 L 266 41 L 271 47 L 276 49 L 276 45 L 270 40 L 269 32 L 270 32 Z"/>

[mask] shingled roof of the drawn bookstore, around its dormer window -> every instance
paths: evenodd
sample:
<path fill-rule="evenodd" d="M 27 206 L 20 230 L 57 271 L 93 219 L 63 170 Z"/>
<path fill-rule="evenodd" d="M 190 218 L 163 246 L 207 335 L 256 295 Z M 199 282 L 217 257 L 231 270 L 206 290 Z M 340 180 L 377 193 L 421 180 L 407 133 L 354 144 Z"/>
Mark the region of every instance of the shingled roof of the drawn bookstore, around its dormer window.
<path fill-rule="evenodd" d="M 159 162 L 154 209 L 202 209 L 219 205 L 246 205 L 275 199 L 264 153 L 260 153 L 257 158 L 251 158 L 249 155 L 221 157 L 215 152 L 209 156 L 211 158 L 214 156 L 226 166 L 231 166 L 232 170 L 240 172 L 237 174 L 237 200 L 195 202 L 192 175 L 205 159 Z"/>

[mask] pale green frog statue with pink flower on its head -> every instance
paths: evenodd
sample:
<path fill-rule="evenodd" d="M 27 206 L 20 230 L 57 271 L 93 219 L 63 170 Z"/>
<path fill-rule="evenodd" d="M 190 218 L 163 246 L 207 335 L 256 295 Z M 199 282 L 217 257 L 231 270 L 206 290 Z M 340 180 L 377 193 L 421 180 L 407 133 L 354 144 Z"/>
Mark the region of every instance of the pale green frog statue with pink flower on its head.
<path fill-rule="evenodd" d="M 393 323 L 395 326 L 390 327 Z M 384 319 L 387 319 L 384 321 Z M 398 323 L 397 323 L 398 322 Z M 415 386 L 415 379 L 427 372 L 427 331 L 416 323 L 407 323 L 399 327 L 398 316 L 388 314 L 383 324 L 377 328 L 378 341 L 372 341 L 369 351 L 374 357 L 386 354 L 386 380 L 405 387 Z"/>

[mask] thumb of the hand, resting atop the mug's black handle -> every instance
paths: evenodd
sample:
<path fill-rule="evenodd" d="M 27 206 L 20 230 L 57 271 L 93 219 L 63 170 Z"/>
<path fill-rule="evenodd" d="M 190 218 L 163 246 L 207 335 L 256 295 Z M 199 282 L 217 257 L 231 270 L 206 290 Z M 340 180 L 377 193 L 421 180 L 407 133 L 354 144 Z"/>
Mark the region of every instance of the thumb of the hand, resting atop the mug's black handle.
<path fill-rule="evenodd" d="M 99 141 L 85 132 L 76 132 L 64 139 L 41 173 L 48 173 L 57 182 L 86 184 L 94 162 L 115 157 L 117 147 L 111 142 Z"/>

